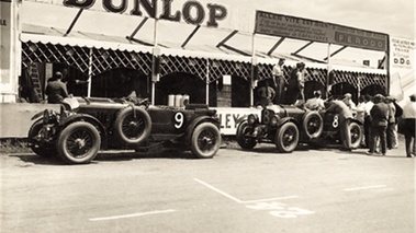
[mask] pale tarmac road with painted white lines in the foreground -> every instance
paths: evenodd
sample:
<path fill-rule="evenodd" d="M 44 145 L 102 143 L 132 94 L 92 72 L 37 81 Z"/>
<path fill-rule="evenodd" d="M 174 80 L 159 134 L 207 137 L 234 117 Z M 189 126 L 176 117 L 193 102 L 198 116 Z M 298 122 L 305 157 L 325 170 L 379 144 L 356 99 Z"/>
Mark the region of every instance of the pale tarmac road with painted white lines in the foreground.
<path fill-rule="evenodd" d="M 415 232 L 415 159 L 364 150 L 1 155 L 8 232 Z"/>

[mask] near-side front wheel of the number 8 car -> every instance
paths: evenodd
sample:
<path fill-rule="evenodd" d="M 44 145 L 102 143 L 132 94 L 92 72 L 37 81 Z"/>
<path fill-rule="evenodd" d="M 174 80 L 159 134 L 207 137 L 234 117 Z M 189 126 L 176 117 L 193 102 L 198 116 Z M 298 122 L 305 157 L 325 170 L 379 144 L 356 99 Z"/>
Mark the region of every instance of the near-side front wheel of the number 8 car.
<path fill-rule="evenodd" d="M 299 143 L 299 129 L 294 123 L 283 124 L 274 137 L 274 144 L 282 153 L 290 153 Z"/>

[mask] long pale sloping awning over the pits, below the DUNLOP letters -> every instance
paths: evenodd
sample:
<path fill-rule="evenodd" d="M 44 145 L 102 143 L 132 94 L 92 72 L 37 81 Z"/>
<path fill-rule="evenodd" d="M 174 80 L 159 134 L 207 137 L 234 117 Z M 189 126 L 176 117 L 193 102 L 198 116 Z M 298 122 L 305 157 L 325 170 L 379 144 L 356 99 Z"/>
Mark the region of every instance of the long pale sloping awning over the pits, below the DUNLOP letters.
<path fill-rule="evenodd" d="M 30 13 L 31 11 L 48 13 L 33 14 Z M 74 28 L 68 33 L 69 25 L 74 23 L 77 14 L 79 14 L 79 9 L 23 1 L 21 4 L 22 33 L 20 39 L 24 43 L 49 43 L 63 46 L 154 53 L 154 20 L 147 21 L 140 16 L 85 10 L 75 23 Z M 158 49 L 155 54 L 158 55 L 236 62 L 251 62 L 252 57 L 255 57 L 255 63 L 268 66 L 277 63 L 279 58 L 285 58 L 288 66 L 303 61 L 310 68 L 328 68 L 324 59 L 327 48 L 323 44 L 314 44 L 314 48 L 304 46 L 305 49 L 303 50 L 305 51 L 311 49 L 314 50 L 313 53 L 318 53 L 316 57 L 321 58 L 315 60 L 319 62 L 313 62 L 307 56 L 296 56 L 296 51 L 301 50 L 299 49 L 300 46 L 302 47 L 302 44 L 307 44 L 307 42 L 284 39 L 285 48 L 272 51 L 270 48 L 281 38 L 259 36 L 256 38 L 256 56 L 252 56 L 254 38 L 250 33 L 226 28 L 198 27 L 164 20 L 158 22 L 157 28 Z M 191 36 L 193 32 L 195 33 Z M 331 59 L 331 69 L 386 74 L 385 70 L 350 66 L 337 59 Z"/>

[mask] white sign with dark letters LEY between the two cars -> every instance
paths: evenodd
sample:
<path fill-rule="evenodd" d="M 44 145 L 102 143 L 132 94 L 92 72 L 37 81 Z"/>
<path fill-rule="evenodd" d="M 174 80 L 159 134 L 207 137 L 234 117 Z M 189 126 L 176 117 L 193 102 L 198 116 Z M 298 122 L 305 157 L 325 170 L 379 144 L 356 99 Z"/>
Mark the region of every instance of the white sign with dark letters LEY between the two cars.
<path fill-rule="evenodd" d="M 261 108 L 237 108 L 237 107 L 213 107 L 220 117 L 222 135 L 235 136 L 237 131 L 237 120 L 249 114 L 257 114 L 261 117 Z"/>

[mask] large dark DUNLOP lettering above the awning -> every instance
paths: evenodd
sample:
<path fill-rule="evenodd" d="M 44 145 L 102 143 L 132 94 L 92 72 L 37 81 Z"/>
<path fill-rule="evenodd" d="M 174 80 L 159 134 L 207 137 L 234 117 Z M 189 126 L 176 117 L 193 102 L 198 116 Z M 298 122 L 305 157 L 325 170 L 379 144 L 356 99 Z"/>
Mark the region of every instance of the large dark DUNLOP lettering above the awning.
<path fill-rule="evenodd" d="M 206 21 L 206 26 L 217 27 L 218 21 L 227 16 L 227 9 L 221 4 L 207 3 L 202 5 L 199 1 L 187 1 L 182 9 L 172 8 L 173 0 L 64 0 L 64 5 L 80 9 L 90 9 L 100 4 L 112 13 L 128 13 L 131 15 L 158 18 L 177 21 L 183 19 L 189 24 L 201 25 Z M 158 7 L 160 3 L 160 7 Z M 162 9 L 157 15 L 157 9 Z M 144 14 L 146 12 L 146 14 Z M 205 20 L 206 19 L 206 20 Z"/>

